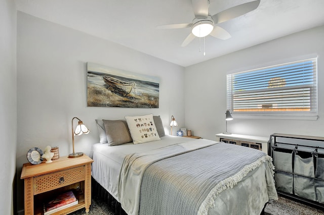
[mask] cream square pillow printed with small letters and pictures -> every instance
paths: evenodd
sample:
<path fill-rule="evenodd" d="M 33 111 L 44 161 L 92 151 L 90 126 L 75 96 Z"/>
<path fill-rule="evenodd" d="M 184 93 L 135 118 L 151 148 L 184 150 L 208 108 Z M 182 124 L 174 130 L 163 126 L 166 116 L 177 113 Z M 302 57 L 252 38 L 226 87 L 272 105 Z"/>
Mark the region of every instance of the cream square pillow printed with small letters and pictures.
<path fill-rule="evenodd" d="M 137 117 L 127 116 L 125 119 L 134 144 L 160 140 L 154 124 L 153 114 Z"/>

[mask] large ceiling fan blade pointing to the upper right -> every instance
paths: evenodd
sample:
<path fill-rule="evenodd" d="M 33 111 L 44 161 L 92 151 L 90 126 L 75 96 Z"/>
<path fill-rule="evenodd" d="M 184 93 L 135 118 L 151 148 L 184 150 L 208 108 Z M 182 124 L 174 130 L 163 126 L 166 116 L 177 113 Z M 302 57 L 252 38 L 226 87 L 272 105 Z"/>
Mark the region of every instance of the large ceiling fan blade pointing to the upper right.
<path fill-rule="evenodd" d="M 233 8 L 229 8 L 225 11 L 222 11 L 218 14 L 215 14 L 212 17 L 213 17 L 214 23 L 219 24 L 222 22 L 226 22 L 230 19 L 239 17 L 241 15 L 244 15 L 246 13 L 249 13 L 249 12 L 257 9 L 259 5 L 260 5 L 260 0 L 241 4 L 241 5 L 235 6 Z"/>

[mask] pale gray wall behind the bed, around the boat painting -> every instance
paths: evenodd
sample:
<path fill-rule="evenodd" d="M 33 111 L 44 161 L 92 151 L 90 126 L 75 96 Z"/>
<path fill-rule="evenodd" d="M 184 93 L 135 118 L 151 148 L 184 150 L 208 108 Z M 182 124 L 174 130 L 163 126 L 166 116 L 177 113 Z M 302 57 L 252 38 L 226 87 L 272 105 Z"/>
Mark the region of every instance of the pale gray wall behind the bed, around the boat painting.
<path fill-rule="evenodd" d="M 171 115 L 184 126 L 184 98 L 178 97 L 184 92 L 183 67 L 21 12 L 17 19 L 18 169 L 34 146 L 56 145 L 60 156 L 71 153 L 73 117 L 91 130 L 75 137 L 75 151 L 86 154 L 99 142 L 95 119 L 153 113 L 161 116 L 166 133 Z M 87 62 L 159 77 L 159 108 L 87 107 Z"/>

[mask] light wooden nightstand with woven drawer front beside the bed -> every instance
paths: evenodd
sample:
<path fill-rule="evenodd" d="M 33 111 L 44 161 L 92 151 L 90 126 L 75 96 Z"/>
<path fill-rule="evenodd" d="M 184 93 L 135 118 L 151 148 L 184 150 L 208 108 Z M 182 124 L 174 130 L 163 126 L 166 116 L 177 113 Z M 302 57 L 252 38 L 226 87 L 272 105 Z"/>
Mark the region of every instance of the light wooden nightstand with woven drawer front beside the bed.
<path fill-rule="evenodd" d="M 25 214 L 44 214 L 43 203 L 47 199 L 73 190 L 78 204 L 53 214 L 67 214 L 91 205 L 91 163 L 87 155 L 76 158 L 60 157 L 52 163 L 24 164 L 20 179 L 24 179 Z"/>

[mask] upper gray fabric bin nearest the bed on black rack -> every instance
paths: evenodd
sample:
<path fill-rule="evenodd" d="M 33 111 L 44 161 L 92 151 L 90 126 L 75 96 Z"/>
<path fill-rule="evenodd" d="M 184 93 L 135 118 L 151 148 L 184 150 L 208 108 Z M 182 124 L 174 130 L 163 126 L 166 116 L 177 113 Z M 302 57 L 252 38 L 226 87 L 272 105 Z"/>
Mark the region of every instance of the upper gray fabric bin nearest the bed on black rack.
<path fill-rule="evenodd" d="M 293 172 L 293 150 L 276 148 L 273 150 L 273 165 L 275 169 Z"/>

